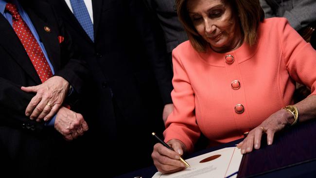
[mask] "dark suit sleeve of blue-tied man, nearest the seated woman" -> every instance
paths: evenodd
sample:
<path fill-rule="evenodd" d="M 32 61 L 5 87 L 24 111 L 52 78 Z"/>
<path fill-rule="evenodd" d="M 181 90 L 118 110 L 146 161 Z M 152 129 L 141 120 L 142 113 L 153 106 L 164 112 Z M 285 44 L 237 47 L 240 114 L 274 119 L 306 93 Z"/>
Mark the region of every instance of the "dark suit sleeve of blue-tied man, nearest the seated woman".
<path fill-rule="evenodd" d="M 130 0 L 130 14 L 138 36 L 145 45 L 144 53 L 155 73 L 164 104 L 172 103 L 172 67 L 168 59 L 164 38 L 157 20 L 146 9 L 142 0 Z M 157 22 L 157 23 L 156 23 Z"/>

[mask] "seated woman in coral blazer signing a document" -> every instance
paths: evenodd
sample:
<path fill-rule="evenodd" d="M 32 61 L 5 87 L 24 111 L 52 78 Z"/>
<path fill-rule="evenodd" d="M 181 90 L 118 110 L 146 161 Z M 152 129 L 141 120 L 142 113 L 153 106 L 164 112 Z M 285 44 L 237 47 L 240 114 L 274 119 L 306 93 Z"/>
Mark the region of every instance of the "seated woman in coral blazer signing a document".
<path fill-rule="evenodd" d="M 210 145 L 246 139 L 241 152 L 259 149 L 286 125 L 316 118 L 316 51 L 285 18 L 264 19 L 258 0 L 176 0 L 189 41 L 173 51 L 172 99 L 165 141 L 152 157 L 158 171 L 185 166 L 202 132 Z M 237 13 L 238 12 L 238 13 Z M 295 82 L 311 95 L 295 104 Z M 283 107 L 283 108 L 282 108 Z"/>

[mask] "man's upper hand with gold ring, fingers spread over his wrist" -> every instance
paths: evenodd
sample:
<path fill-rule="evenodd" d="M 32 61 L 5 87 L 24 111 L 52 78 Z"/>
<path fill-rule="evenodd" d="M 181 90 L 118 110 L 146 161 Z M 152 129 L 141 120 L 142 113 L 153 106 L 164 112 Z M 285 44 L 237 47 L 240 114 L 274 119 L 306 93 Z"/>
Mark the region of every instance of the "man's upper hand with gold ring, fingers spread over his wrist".
<path fill-rule="evenodd" d="M 69 90 L 69 82 L 60 76 L 53 76 L 46 82 L 33 86 L 21 87 L 25 92 L 33 92 L 36 95 L 26 107 L 25 115 L 31 120 L 40 122 L 50 120 L 61 107 Z"/>

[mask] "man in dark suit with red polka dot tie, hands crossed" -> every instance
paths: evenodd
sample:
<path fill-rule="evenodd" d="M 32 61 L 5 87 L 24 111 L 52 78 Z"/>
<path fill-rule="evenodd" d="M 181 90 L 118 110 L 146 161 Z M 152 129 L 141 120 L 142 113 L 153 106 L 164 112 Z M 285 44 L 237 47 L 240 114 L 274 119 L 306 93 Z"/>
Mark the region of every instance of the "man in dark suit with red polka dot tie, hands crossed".
<path fill-rule="evenodd" d="M 77 138 L 88 126 L 80 114 L 67 107 L 57 109 L 53 123 L 31 120 L 25 108 L 35 93 L 25 92 L 21 86 L 69 93 L 71 85 L 72 93 L 66 98 L 70 104 L 71 97 L 82 90 L 87 69 L 73 58 L 71 40 L 51 5 L 35 0 L 0 0 L 0 13 L 1 174 L 54 176 L 66 170 L 63 162 L 67 161 L 61 155 L 69 152 L 62 146 L 62 137 Z M 45 105 L 53 107 L 53 103 Z"/>

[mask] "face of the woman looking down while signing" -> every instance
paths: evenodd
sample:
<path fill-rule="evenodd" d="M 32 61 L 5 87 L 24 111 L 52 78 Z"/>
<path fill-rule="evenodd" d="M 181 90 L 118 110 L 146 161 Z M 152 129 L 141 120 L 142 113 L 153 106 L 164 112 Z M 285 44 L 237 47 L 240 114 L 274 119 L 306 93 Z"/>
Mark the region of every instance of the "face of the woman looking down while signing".
<path fill-rule="evenodd" d="M 193 25 L 216 52 L 230 51 L 241 42 L 237 18 L 230 5 L 222 0 L 188 0 L 187 8 Z"/>

